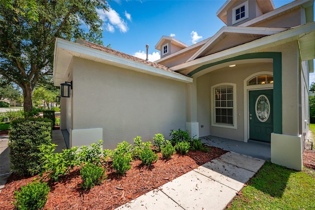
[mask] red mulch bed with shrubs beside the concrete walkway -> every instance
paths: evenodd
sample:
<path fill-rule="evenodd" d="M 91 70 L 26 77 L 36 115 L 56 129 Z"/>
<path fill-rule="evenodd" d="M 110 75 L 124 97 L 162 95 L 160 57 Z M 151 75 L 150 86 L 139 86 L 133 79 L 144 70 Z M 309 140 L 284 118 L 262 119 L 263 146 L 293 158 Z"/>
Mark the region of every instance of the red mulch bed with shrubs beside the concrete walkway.
<path fill-rule="evenodd" d="M 50 210 L 112 210 L 140 195 L 143 195 L 178 176 L 207 163 L 222 154 L 225 150 L 211 147 L 208 153 L 189 151 L 187 155 L 173 155 L 170 160 L 163 160 L 158 153 L 158 161 L 150 167 L 142 166 L 141 161 L 132 162 L 131 170 L 125 176 L 117 175 L 111 164 L 107 163 L 106 180 L 90 191 L 80 187 L 80 168 L 75 168 L 69 175 L 61 177 L 58 182 L 48 181 L 49 198 L 44 209 Z M 0 192 L 0 209 L 11 210 L 14 191 L 26 185 L 38 176 L 22 178 L 11 175 L 5 188 Z"/>

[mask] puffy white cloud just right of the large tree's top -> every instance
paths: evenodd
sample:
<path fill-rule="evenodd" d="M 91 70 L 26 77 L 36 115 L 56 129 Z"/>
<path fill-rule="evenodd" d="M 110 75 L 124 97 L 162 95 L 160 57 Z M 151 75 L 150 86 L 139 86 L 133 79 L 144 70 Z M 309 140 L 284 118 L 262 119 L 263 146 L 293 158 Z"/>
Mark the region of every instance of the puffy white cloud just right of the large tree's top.
<path fill-rule="evenodd" d="M 125 20 L 123 20 L 119 14 L 112 8 L 108 8 L 108 11 L 103 11 L 101 9 L 97 9 L 97 13 L 102 19 L 102 21 L 109 22 L 107 23 L 106 30 L 109 32 L 113 32 L 113 28 L 118 28 L 120 32 L 126 33 L 128 31 L 127 24 Z M 108 24 L 110 24 L 112 27 L 108 27 Z"/>

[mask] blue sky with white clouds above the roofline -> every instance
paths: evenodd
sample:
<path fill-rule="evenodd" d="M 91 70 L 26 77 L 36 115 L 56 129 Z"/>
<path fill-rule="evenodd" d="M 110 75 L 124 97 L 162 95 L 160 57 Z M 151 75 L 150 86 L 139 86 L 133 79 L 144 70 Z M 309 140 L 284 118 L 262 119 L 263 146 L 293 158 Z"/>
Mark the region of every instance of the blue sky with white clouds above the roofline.
<path fill-rule="evenodd" d="M 281 7 L 293 0 L 273 0 Z M 218 32 L 224 23 L 216 12 L 225 0 L 112 0 L 109 11 L 99 12 L 104 21 L 103 42 L 112 49 L 149 60 L 158 60 L 155 49 L 162 35 L 191 45 Z M 315 75 L 311 74 L 311 81 Z"/>

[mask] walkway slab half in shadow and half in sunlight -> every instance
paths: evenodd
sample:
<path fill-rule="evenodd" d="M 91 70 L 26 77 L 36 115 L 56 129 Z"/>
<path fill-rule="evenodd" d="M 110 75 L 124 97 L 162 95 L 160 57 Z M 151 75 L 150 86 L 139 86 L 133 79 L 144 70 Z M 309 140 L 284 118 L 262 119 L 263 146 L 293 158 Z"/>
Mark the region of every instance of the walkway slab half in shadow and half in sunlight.
<path fill-rule="evenodd" d="M 202 175 L 213 178 L 214 180 L 228 186 L 236 191 L 240 191 L 255 173 L 237 166 L 225 163 L 220 160 L 213 160 L 197 169 L 194 169 Z"/>

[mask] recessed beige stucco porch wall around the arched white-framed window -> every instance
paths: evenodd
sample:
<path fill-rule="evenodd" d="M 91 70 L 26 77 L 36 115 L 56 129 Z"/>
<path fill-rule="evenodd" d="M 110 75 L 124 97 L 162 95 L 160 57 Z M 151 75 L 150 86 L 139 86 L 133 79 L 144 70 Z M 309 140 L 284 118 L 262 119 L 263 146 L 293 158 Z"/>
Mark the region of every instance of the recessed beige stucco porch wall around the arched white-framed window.
<path fill-rule="evenodd" d="M 244 79 L 259 71 L 272 71 L 272 63 L 241 64 L 222 68 L 197 78 L 197 115 L 199 136 L 218 136 L 244 140 Z M 236 84 L 237 129 L 211 126 L 211 87 L 220 83 Z M 201 126 L 203 125 L 203 128 Z"/>

